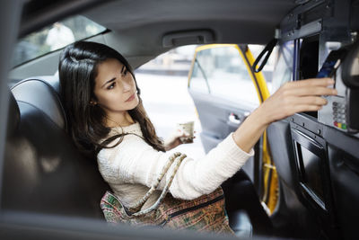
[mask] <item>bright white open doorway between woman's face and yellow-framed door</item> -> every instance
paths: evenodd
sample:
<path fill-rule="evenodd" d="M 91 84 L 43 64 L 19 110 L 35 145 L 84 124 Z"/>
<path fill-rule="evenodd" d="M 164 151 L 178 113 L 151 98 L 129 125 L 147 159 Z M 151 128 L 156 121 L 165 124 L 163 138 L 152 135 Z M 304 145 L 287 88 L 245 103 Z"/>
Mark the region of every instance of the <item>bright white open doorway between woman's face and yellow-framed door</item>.
<path fill-rule="evenodd" d="M 188 93 L 188 71 L 196 47 L 188 45 L 171 49 L 135 70 L 144 108 L 160 138 L 168 138 L 179 123 L 188 121 L 194 121 L 194 130 L 202 131 L 196 106 Z M 198 138 L 189 148 L 188 144 L 176 148 L 194 158 L 206 155 Z"/>

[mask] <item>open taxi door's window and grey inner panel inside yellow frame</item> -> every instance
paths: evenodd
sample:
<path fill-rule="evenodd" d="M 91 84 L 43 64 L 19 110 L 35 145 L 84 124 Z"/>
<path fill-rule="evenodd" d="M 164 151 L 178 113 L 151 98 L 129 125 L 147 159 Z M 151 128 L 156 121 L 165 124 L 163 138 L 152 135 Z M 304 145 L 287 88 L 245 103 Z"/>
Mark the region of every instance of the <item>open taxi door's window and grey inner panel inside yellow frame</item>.
<path fill-rule="evenodd" d="M 256 88 L 245 62 L 238 45 L 198 48 L 189 74 L 188 93 L 196 105 L 206 153 L 238 129 L 258 106 Z M 243 170 L 254 182 L 252 158 Z"/>

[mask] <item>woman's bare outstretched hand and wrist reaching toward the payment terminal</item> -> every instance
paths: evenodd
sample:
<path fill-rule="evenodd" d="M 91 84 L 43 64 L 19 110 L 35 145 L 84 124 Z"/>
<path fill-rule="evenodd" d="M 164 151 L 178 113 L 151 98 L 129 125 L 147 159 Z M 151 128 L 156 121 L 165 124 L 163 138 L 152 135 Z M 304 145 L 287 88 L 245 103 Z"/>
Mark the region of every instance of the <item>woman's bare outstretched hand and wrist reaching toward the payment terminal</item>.
<path fill-rule="evenodd" d="M 322 95 L 336 95 L 337 90 L 328 88 L 334 84 L 330 78 L 312 78 L 286 83 L 263 102 L 243 121 L 232 138 L 245 152 L 250 152 L 267 126 L 301 111 L 318 111 L 327 104 Z"/>

